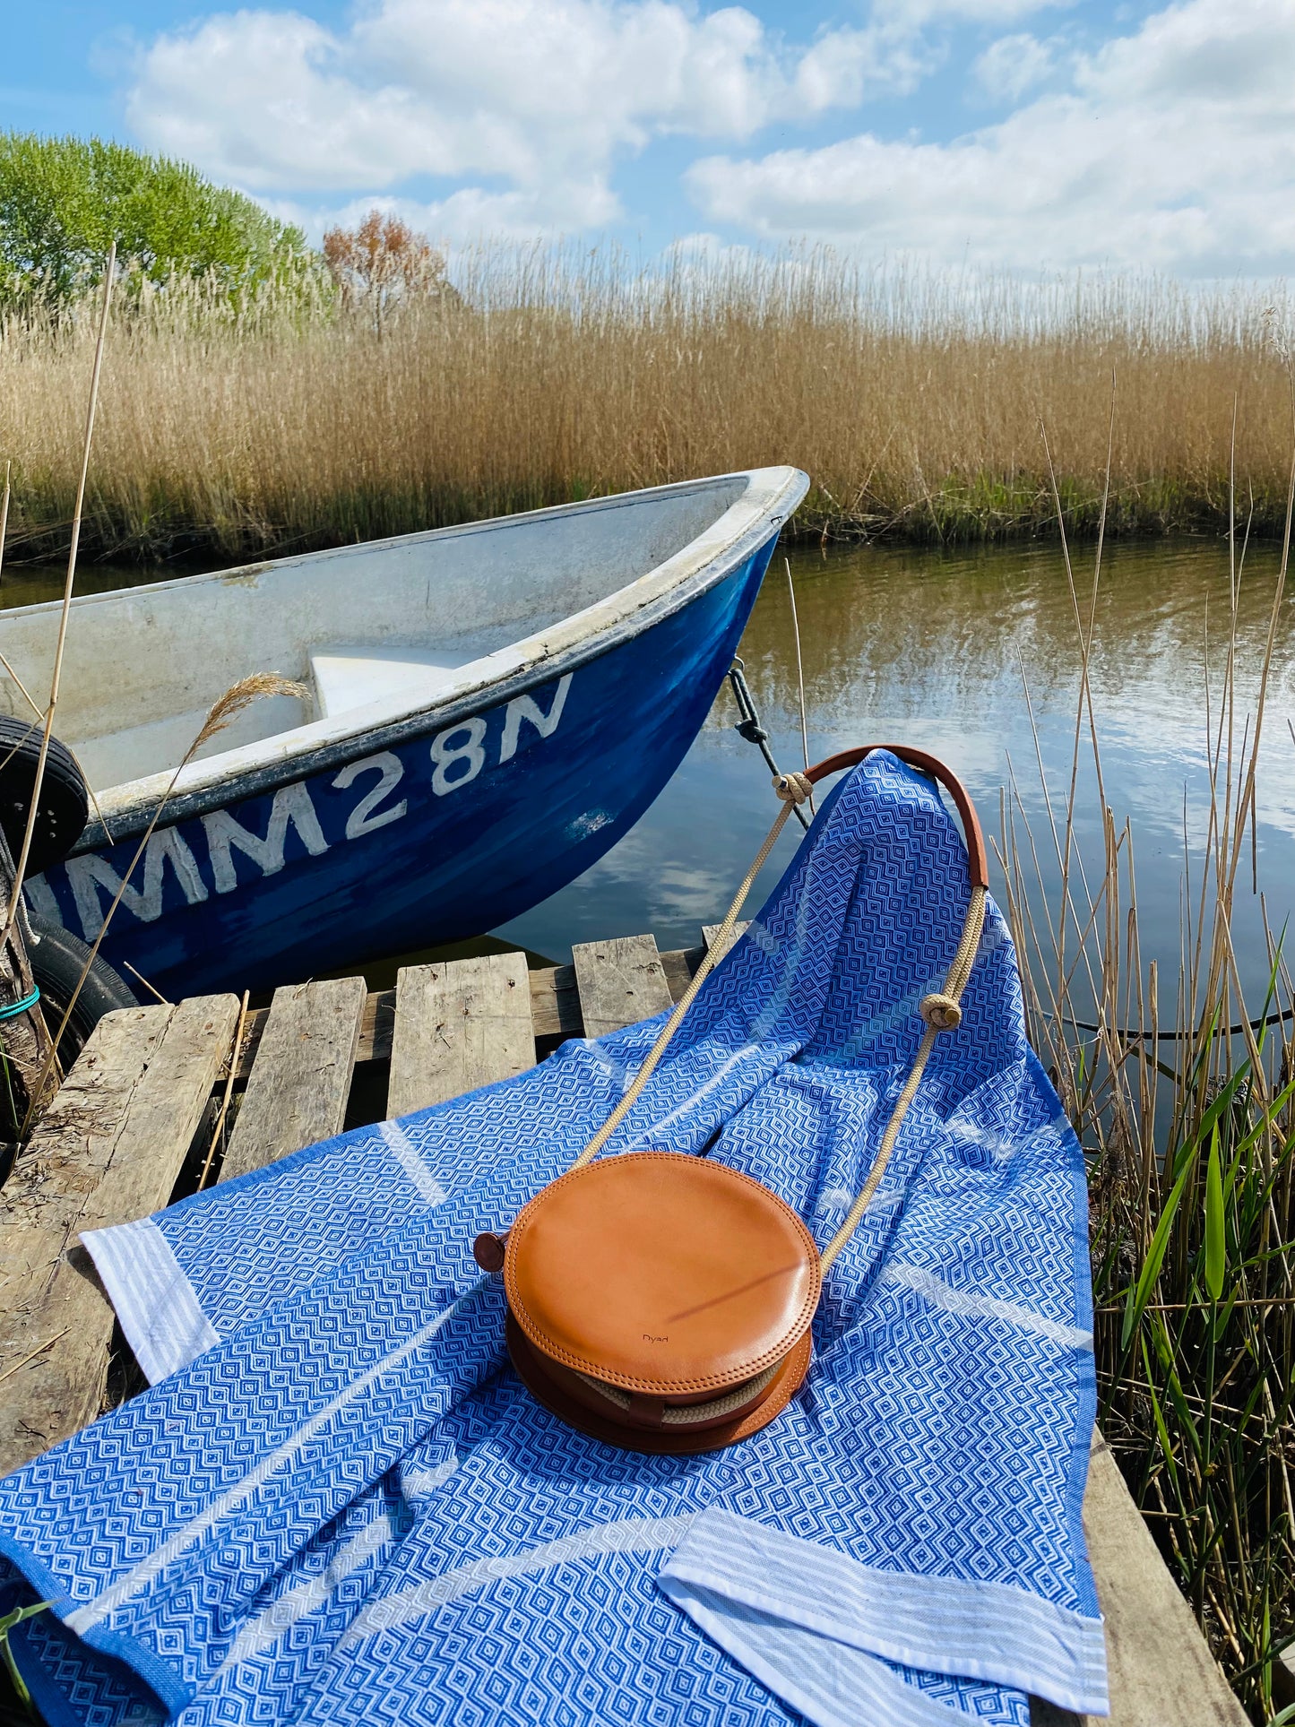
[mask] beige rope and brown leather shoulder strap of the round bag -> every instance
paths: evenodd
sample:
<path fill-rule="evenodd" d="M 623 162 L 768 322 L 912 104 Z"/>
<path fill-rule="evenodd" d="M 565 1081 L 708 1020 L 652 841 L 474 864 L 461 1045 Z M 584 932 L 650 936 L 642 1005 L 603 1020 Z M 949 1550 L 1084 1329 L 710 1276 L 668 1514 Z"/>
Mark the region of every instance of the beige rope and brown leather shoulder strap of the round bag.
<path fill-rule="evenodd" d="M 741 888 L 734 895 L 734 901 L 729 907 L 725 919 L 718 927 L 718 933 L 710 943 L 710 948 L 706 950 L 704 958 L 698 965 L 687 990 L 679 998 L 679 1003 L 670 1014 L 670 1019 L 666 1019 L 666 1022 L 661 1026 L 656 1041 L 653 1043 L 651 1050 L 648 1052 L 648 1057 L 644 1059 L 642 1067 L 637 1071 L 630 1086 L 627 1088 L 616 1107 L 611 1110 L 608 1119 L 603 1123 L 603 1126 L 592 1136 L 589 1145 L 585 1145 L 585 1148 L 572 1164 L 572 1169 L 580 1169 L 585 1164 L 592 1162 L 594 1157 L 597 1157 L 597 1154 L 608 1143 L 611 1135 L 616 1131 L 616 1128 L 622 1124 L 622 1121 L 634 1109 L 639 1097 L 642 1095 L 644 1086 L 651 1079 L 656 1064 L 668 1050 L 670 1041 L 673 1034 L 679 1031 L 679 1026 L 682 1024 L 689 1007 L 696 1000 L 698 991 L 715 969 L 717 958 L 727 952 L 729 938 L 732 936 L 734 926 L 741 915 L 742 907 L 746 905 L 746 896 L 749 895 L 756 876 L 763 869 L 768 853 L 777 845 L 777 838 L 786 827 L 791 812 L 796 808 L 796 805 L 805 803 L 805 800 L 810 796 L 812 789 L 818 784 L 818 781 L 827 779 L 831 774 L 839 774 L 843 769 L 855 767 L 858 762 L 863 762 L 865 756 L 870 756 L 874 750 L 889 750 L 891 755 L 900 756 L 900 760 L 908 762 L 910 767 L 915 767 L 920 772 L 929 774 L 932 779 L 938 779 L 950 791 L 953 803 L 957 805 L 958 815 L 962 817 L 963 834 L 967 839 L 970 898 L 967 901 L 967 914 L 962 924 L 962 941 L 958 943 L 958 952 L 953 955 L 953 964 L 950 965 L 948 974 L 944 976 L 944 988 L 934 995 L 924 996 L 922 1002 L 919 1003 L 919 1014 L 925 1021 L 925 1033 L 922 1034 L 922 1041 L 917 1047 L 917 1055 L 913 1057 L 913 1066 L 908 1071 L 908 1079 L 905 1081 L 903 1090 L 900 1091 L 900 1097 L 894 1102 L 894 1109 L 891 1110 L 891 1119 L 886 1123 L 886 1131 L 882 1133 L 877 1155 L 872 1162 L 872 1169 L 869 1171 L 863 1186 L 860 1188 L 858 1199 L 850 1207 L 850 1216 L 846 1218 L 846 1221 L 841 1224 L 841 1228 L 836 1231 L 829 1245 L 824 1249 L 822 1254 L 824 1275 L 827 1273 L 829 1266 L 837 1257 L 841 1249 L 846 1245 L 850 1237 L 858 1228 L 860 1221 L 863 1219 L 863 1212 L 869 1209 L 872 1195 L 877 1192 L 881 1178 L 886 1174 L 886 1166 L 889 1164 L 896 1140 L 900 1138 L 900 1128 L 903 1126 L 903 1117 L 908 1114 L 908 1107 L 917 1097 L 917 1090 L 922 1083 L 922 1074 L 925 1072 L 925 1066 L 927 1060 L 931 1059 L 931 1050 L 934 1048 L 936 1038 L 939 1036 L 941 1031 L 957 1031 L 957 1028 L 962 1024 L 962 1005 L 960 1005 L 962 991 L 967 988 L 967 979 L 970 977 L 970 969 L 976 964 L 976 953 L 981 945 L 981 933 L 984 929 L 984 903 L 989 888 L 989 867 L 984 848 L 984 836 L 981 834 L 981 824 L 977 820 L 976 808 L 972 807 L 972 801 L 967 796 L 967 791 L 962 786 L 962 782 L 957 779 L 955 774 L 950 772 L 950 769 L 944 767 L 943 762 L 939 762 L 932 755 L 927 755 L 925 750 L 913 750 L 908 744 L 862 744 L 858 750 L 844 750 L 841 751 L 841 755 L 834 755 L 829 756 L 825 762 L 818 762 L 805 774 L 779 774 L 774 779 L 774 791 L 782 801 L 782 808 L 779 810 L 765 843 L 761 845 L 760 851 L 756 851 L 755 862 L 748 869 Z M 478 1237 L 478 1242 L 492 1243 L 492 1247 L 497 1250 L 499 1264 L 502 1264 L 501 1237 Z M 487 1259 L 478 1257 L 478 1262 L 485 1269 L 497 1269 L 494 1259 L 487 1262 Z"/>

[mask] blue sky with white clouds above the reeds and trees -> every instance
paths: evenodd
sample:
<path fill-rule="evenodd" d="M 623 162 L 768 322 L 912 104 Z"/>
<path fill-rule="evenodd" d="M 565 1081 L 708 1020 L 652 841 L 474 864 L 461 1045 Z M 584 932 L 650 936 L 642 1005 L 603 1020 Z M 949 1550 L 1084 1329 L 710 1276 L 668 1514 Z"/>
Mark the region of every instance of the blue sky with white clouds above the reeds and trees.
<path fill-rule="evenodd" d="M 0 0 L 0 128 L 180 155 L 318 240 L 825 242 L 1295 268 L 1295 0 Z"/>

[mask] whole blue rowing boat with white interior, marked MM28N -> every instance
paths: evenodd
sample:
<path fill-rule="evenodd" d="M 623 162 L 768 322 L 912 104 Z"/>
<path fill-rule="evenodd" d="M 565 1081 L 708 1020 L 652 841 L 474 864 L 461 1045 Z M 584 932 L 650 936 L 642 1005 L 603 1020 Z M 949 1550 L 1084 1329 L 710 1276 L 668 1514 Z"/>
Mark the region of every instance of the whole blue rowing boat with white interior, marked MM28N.
<path fill-rule="evenodd" d="M 516 917 L 675 772 L 806 485 L 761 468 L 74 599 L 59 736 L 95 813 L 31 910 L 93 941 L 119 895 L 104 955 L 174 998 Z M 28 689 L 57 618 L 0 618 Z M 185 760 L 256 674 L 294 687 Z"/>

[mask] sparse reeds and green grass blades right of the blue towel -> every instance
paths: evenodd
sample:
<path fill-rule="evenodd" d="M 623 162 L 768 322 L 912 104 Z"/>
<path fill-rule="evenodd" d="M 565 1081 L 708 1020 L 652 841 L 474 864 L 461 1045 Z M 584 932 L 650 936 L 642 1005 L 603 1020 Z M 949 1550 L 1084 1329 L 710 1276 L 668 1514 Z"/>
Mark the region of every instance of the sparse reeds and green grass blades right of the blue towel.
<path fill-rule="evenodd" d="M 1236 694 L 1240 532 L 1231 551 L 1231 618 L 1203 713 L 1210 812 L 1203 836 L 1184 839 L 1176 976 L 1141 952 L 1134 836 L 1102 779 L 1086 672 L 1100 549 L 1091 577 L 1065 560 L 1084 665 L 1071 781 L 1043 786 L 1048 817 L 1031 826 L 1014 779 L 998 850 L 1031 1041 L 1088 1162 L 1098 1420 L 1238 1696 L 1276 1724 L 1295 1720 L 1295 1687 L 1276 1667 L 1295 1644 L 1295 986 L 1290 884 L 1273 884 L 1271 908 L 1252 848 L 1266 727 L 1295 767 L 1288 715 L 1266 713 L 1290 516 L 1248 713 Z M 1076 841 L 1086 798 L 1102 815 L 1096 858 Z M 1057 872 L 1062 891 L 1045 898 Z M 1257 998 L 1233 952 L 1245 915 L 1267 934 Z"/>

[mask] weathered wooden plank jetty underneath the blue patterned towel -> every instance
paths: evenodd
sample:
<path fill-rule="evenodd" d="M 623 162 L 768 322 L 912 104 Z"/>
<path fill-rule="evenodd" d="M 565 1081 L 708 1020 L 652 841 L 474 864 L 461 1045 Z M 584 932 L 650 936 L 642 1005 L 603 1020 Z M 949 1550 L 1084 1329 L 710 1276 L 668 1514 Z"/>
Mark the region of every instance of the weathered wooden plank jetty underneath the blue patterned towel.
<path fill-rule="evenodd" d="M 407 967 L 380 995 L 359 977 L 295 984 L 249 1015 L 228 995 L 111 1014 L 0 1192 L 0 1475 L 142 1383 L 81 1230 L 159 1211 L 204 1169 L 245 1174 L 646 1019 L 679 1000 L 703 952 L 630 936 L 546 971 L 520 953 Z M 1084 1525 L 1114 1727 L 1245 1727 L 1100 1437 Z M 1077 1722 L 1038 1703 L 1033 1720 Z"/>

